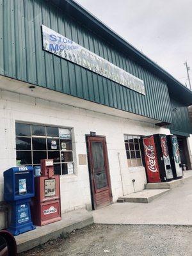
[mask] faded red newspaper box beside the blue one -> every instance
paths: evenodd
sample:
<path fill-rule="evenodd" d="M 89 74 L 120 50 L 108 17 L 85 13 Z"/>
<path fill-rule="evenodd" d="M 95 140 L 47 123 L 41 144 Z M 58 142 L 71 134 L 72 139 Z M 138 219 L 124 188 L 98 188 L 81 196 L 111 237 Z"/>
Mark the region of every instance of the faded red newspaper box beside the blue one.
<path fill-rule="evenodd" d="M 41 176 L 35 177 L 31 215 L 37 226 L 61 220 L 60 175 L 54 175 L 53 159 L 41 160 Z"/>

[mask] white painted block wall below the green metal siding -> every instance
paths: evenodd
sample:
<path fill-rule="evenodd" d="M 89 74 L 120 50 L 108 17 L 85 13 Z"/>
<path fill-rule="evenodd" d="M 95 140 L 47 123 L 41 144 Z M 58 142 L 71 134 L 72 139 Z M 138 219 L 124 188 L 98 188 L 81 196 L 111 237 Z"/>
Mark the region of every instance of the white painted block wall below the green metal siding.
<path fill-rule="evenodd" d="M 4 90 L 0 91 L 0 120 L 0 201 L 3 200 L 3 172 L 16 164 L 15 121 L 73 128 L 76 168 L 74 175 L 60 177 L 62 212 L 79 207 L 90 208 L 91 206 L 88 166 L 79 165 L 76 161 L 78 154 L 86 154 L 85 134 L 95 131 L 97 135 L 106 136 L 113 202 L 123 195 L 120 166 L 124 194 L 134 191 L 132 179 L 136 180 L 136 191 L 141 191 L 146 183 L 143 167 L 127 167 L 124 133 L 135 135 L 170 134 L 169 129 L 147 122 L 105 115 Z M 118 153 L 120 161 L 118 161 Z"/>

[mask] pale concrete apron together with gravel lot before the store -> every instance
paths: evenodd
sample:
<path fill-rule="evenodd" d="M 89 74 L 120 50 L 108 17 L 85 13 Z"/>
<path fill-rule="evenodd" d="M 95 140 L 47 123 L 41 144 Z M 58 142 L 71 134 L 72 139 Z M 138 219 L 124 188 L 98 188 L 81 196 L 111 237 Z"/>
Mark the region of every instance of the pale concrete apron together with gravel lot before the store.
<path fill-rule="evenodd" d="M 149 204 L 116 203 L 92 211 L 97 224 L 61 234 L 21 255 L 191 256 L 191 212 L 188 180 Z"/>

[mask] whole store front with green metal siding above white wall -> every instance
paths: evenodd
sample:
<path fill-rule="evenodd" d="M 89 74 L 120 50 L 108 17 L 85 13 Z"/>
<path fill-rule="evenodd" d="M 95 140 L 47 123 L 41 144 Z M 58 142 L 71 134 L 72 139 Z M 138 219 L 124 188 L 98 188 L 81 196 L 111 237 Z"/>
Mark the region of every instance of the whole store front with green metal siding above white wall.
<path fill-rule="evenodd" d="M 141 191 L 150 134 L 177 135 L 191 168 L 192 92 L 74 1 L 1 0 L 0 52 L 0 201 L 4 170 L 44 158 L 62 212 Z"/>

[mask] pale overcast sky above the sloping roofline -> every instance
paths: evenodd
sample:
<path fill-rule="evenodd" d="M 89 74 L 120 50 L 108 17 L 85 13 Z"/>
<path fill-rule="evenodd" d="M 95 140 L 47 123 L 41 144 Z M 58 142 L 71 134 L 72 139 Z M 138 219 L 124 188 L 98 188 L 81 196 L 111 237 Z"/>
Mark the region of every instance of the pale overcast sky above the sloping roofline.
<path fill-rule="evenodd" d="M 76 1 L 182 83 L 187 60 L 192 80 L 192 0 Z"/>

